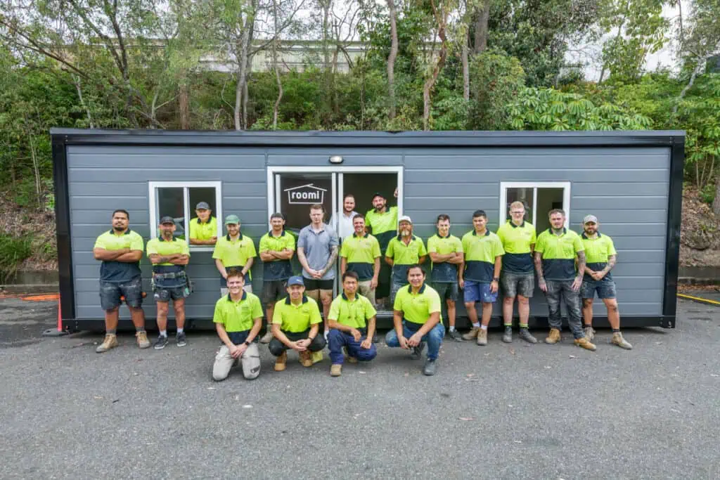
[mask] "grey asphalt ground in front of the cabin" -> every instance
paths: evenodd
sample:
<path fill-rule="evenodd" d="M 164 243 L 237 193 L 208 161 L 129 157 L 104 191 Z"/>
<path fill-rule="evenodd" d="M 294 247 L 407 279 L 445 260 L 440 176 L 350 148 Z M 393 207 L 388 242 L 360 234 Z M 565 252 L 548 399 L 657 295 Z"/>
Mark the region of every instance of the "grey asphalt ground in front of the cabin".
<path fill-rule="evenodd" d="M 211 332 L 138 350 L 132 335 L 40 338 L 54 302 L 0 300 L 0 478 L 720 478 L 720 309 L 680 300 L 678 328 L 608 344 L 444 343 L 438 374 L 382 345 L 210 378 Z M 544 337 L 544 332 L 536 332 Z"/>

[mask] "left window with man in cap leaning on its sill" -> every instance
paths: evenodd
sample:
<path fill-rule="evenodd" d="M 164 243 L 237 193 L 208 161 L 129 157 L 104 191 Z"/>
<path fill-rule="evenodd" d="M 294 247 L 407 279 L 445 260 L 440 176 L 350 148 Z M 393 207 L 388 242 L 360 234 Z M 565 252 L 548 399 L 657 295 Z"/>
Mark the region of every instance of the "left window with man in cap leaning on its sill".
<path fill-rule="evenodd" d="M 151 181 L 150 237 L 158 235 L 158 222 L 169 215 L 175 220 L 175 236 L 188 240 L 190 220 L 196 217 L 195 206 L 204 201 L 217 218 L 217 236 L 222 235 L 222 195 L 219 181 Z M 212 251 L 210 246 L 190 245 L 194 251 Z"/>

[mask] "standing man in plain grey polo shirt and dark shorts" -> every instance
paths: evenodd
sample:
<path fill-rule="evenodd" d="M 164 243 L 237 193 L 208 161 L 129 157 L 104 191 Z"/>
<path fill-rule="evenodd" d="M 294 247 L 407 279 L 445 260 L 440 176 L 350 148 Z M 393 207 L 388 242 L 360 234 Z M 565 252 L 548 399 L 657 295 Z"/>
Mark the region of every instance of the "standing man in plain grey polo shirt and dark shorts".
<path fill-rule="evenodd" d="M 328 313 L 333 302 L 335 261 L 338 258 L 338 235 L 323 222 L 325 209 L 320 204 L 310 207 L 310 225 L 297 236 L 297 260 L 302 265 L 305 294 L 323 304 L 325 338 L 328 338 Z"/>

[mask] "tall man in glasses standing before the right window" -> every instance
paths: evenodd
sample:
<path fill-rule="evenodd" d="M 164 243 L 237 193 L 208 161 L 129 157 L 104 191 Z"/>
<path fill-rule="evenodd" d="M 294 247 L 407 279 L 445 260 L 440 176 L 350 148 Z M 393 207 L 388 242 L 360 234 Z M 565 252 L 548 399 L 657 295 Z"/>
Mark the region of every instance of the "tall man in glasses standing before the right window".
<path fill-rule="evenodd" d="M 498 228 L 498 237 L 503 243 L 503 269 L 500 271 L 500 285 L 503 287 L 503 320 L 505 333 L 503 342 L 513 341 L 513 303 L 518 299 L 520 317 L 520 338 L 528 343 L 537 343 L 530 335 L 530 299 L 535 290 L 533 250 L 535 248 L 535 227 L 525 220 L 525 206 L 522 201 L 510 204 L 510 219 Z"/>

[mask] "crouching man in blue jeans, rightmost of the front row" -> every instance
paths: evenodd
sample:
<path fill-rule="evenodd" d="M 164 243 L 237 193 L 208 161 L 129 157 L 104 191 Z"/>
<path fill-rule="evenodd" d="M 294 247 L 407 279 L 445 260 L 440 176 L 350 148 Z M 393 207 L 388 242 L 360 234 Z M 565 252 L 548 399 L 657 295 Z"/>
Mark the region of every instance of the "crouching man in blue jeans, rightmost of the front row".
<path fill-rule="evenodd" d="M 425 272 L 419 265 L 408 268 L 408 282 L 397 291 L 392 309 L 395 330 L 385 335 L 388 347 L 413 350 L 413 358 L 420 358 L 428 343 L 428 359 L 423 367 L 426 375 L 435 375 L 440 345 L 445 327 L 440 318 L 440 295 L 425 284 Z"/>

